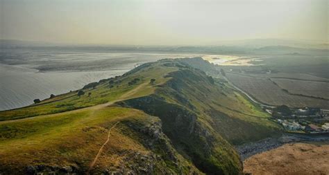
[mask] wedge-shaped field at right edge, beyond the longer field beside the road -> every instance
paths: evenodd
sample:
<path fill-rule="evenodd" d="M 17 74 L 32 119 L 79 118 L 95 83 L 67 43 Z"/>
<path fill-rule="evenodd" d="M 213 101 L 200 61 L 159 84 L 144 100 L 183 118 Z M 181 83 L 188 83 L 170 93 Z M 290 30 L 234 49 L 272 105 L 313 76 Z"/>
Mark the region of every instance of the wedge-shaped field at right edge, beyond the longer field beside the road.
<path fill-rule="evenodd" d="M 329 83 L 328 82 L 311 82 L 303 80 L 289 80 L 285 78 L 272 78 L 282 89 L 286 89 L 289 93 L 296 95 L 306 95 L 317 98 L 329 99 Z"/>

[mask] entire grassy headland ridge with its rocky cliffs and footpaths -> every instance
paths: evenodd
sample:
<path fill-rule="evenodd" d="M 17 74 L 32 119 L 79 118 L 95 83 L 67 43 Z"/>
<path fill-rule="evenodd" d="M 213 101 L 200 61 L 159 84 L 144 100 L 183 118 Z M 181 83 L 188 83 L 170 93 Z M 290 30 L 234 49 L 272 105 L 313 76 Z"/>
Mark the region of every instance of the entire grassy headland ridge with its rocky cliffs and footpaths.
<path fill-rule="evenodd" d="M 80 91 L 0 112 L 0 172 L 239 174 L 234 145 L 280 134 L 201 58 L 142 64 Z"/>

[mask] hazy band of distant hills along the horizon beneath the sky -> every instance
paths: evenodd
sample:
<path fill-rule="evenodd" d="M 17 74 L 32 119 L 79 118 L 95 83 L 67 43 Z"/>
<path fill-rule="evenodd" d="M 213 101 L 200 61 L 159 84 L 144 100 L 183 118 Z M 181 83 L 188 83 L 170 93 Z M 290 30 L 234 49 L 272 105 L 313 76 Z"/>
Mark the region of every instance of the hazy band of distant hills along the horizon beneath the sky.
<path fill-rule="evenodd" d="M 319 46 L 319 47 L 318 47 Z M 116 46 L 88 44 L 54 44 L 0 39 L 0 48 L 47 48 L 76 52 L 124 52 L 124 53 L 189 53 L 189 54 L 269 54 L 282 55 L 298 53 L 302 55 L 328 55 L 328 44 L 298 44 L 296 41 L 280 39 L 250 39 L 223 42 L 214 46 Z"/>

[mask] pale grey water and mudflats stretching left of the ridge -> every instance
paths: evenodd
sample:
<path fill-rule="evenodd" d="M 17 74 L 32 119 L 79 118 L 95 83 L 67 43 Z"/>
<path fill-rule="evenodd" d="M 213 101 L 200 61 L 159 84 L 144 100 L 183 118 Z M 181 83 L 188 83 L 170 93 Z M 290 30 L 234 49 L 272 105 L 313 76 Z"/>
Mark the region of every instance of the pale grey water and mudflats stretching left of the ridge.
<path fill-rule="evenodd" d="M 122 75 L 145 62 L 194 56 L 203 55 L 3 49 L 0 53 L 0 111 L 33 104 L 36 98 L 43 100 L 51 94 L 81 89 L 90 82 Z"/>

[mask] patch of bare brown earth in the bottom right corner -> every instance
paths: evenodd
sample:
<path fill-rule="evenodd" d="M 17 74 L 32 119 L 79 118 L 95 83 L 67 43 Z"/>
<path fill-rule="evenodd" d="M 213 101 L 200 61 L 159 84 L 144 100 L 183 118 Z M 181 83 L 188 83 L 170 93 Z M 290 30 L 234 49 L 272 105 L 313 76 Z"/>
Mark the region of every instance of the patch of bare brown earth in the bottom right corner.
<path fill-rule="evenodd" d="M 244 160 L 244 172 L 256 174 L 329 174 L 329 142 L 291 143 Z"/>

